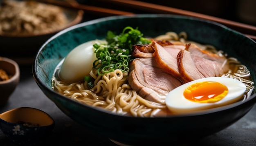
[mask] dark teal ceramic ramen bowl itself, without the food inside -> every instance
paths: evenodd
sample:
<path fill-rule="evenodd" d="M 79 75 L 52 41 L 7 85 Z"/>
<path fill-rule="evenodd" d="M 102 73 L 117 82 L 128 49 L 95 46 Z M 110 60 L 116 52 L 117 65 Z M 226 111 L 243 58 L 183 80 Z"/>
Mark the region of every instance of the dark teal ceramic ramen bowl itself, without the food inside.
<path fill-rule="evenodd" d="M 161 14 L 112 16 L 84 22 L 47 40 L 33 63 L 34 79 L 43 93 L 81 126 L 120 145 L 185 145 L 230 126 L 254 106 L 256 97 L 253 91 L 244 101 L 197 113 L 131 117 L 81 104 L 53 90 L 51 79 L 54 70 L 72 49 L 90 40 L 104 39 L 109 30 L 121 32 L 126 26 L 138 27 L 148 37 L 156 37 L 167 31 L 185 31 L 189 40 L 214 45 L 240 60 L 247 66 L 252 80 L 256 79 L 255 42 L 215 22 Z"/>

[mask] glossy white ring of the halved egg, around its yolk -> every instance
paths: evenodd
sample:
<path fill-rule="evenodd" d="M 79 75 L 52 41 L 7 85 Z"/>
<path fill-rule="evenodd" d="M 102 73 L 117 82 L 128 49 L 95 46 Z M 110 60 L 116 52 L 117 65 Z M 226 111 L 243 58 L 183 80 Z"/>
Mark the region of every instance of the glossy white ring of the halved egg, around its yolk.
<path fill-rule="evenodd" d="M 215 81 L 224 84 L 228 88 L 228 94 L 218 102 L 197 103 L 187 100 L 183 92 L 185 88 L 196 82 Z M 206 77 L 183 84 L 170 91 L 166 96 L 166 106 L 173 113 L 187 114 L 196 111 L 225 106 L 241 100 L 246 90 L 244 83 L 229 77 Z"/>

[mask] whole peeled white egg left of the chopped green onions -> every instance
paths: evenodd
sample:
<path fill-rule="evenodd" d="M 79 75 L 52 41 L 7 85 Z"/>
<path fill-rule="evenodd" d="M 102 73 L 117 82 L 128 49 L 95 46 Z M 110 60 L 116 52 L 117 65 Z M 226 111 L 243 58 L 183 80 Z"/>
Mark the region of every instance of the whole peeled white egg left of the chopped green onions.
<path fill-rule="evenodd" d="M 92 40 L 76 46 L 65 57 L 59 77 L 65 82 L 78 82 L 83 80 L 85 75 L 89 75 L 93 62 L 97 60 L 94 53 L 94 43 L 102 43 L 102 40 Z"/>

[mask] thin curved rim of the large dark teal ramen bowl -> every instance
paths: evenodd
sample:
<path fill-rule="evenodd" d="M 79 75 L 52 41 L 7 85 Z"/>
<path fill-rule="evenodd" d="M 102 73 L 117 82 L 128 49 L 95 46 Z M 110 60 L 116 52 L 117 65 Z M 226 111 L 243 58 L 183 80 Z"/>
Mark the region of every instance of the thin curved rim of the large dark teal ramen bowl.
<path fill-rule="evenodd" d="M 184 15 L 173 15 L 173 14 L 133 14 L 133 15 L 116 15 L 116 16 L 109 16 L 109 17 L 104 17 L 104 18 L 98 18 L 98 19 L 94 19 L 94 20 L 90 20 L 87 22 L 83 22 L 80 24 L 76 24 L 72 27 L 69 27 L 67 29 L 64 29 L 58 33 L 56 33 L 54 36 L 52 36 L 51 38 L 49 38 L 38 50 L 38 52 L 36 53 L 36 56 L 34 58 L 33 64 L 32 64 L 32 69 L 33 69 L 33 77 L 36 81 L 36 83 L 38 84 L 38 86 L 40 88 L 43 88 L 44 90 L 49 91 L 50 93 L 52 93 L 54 96 L 60 97 L 65 101 L 68 102 L 72 102 L 73 104 L 76 104 L 77 106 L 81 106 L 81 107 L 85 107 L 85 108 L 90 108 L 90 110 L 94 110 L 97 111 L 99 113 L 106 113 L 108 114 L 108 116 L 117 116 L 117 117 L 123 117 L 123 118 L 136 118 L 136 119 L 163 119 L 163 118 L 179 118 L 179 117 L 193 117 L 193 116 L 200 116 L 200 115 L 207 115 L 207 114 L 211 114 L 211 113 L 217 113 L 217 112 L 221 112 L 221 111 L 227 111 L 227 110 L 232 110 L 234 108 L 238 108 L 240 106 L 253 106 L 256 103 L 256 93 L 252 92 L 252 95 L 246 99 L 245 101 L 240 101 L 240 102 L 235 102 L 233 104 L 228 104 L 226 106 L 221 106 L 221 107 L 216 107 L 216 108 L 211 108 L 208 110 L 204 110 L 204 111 L 198 111 L 196 113 L 187 113 L 187 114 L 177 114 L 177 115 L 167 115 L 167 116 L 161 116 L 161 117 L 133 117 L 133 116 L 126 116 L 126 115 L 118 115 L 117 113 L 112 113 L 111 111 L 107 111 L 98 107 L 92 107 L 86 104 L 82 104 L 79 102 L 76 102 L 70 98 L 64 97 L 63 95 L 50 90 L 50 88 L 48 88 L 38 77 L 37 74 L 37 60 L 38 60 L 38 55 L 40 54 L 40 51 L 43 50 L 43 48 L 52 40 L 54 40 L 55 38 L 57 38 L 59 35 L 62 35 L 68 31 L 71 31 L 73 29 L 77 29 L 79 27 L 84 27 L 86 25 L 90 25 L 90 24 L 95 24 L 98 22 L 104 22 L 104 21 L 108 21 L 108 20 L 116 20 L 116 19 L 126 19 L 126 18 L 156 18 L 156 17 L 164 17 L 164 18 L 182 18 L 182 19 L 189 19 L 189 20 L 196 20 L 196 21 L 201 21 L 201 22 L 206 22 L 206 23 L 211 23 L 213 25 L 217 25 L 218 27 L 222 27 L 223 29 L 226 29 L 228 31 L 232 31 L 234 33 L 237 33 L 239 35 L 242 35 L 245 38 L 248 38 L 249 40 L 253 41 L 251 38 L 247 37 L 246 35 L 244 35 L 243 33 L 240 33 L 238 31 L 235 31 L 233 29 L 230 29 L 229 27 L 226 27 L 223 24 L 220 24 L 218 22 L 213 22 L 211 20 L 205 20 L 202 18 L 195 18 L 195 17 L 191 17 L 191 16 L 184 16 Z M 49 97 L 48 97 L 49 98 Z M 251 107 L 252 108 L 252 107 Z M 248 112 L 248 111 L 247 111 Z"/>

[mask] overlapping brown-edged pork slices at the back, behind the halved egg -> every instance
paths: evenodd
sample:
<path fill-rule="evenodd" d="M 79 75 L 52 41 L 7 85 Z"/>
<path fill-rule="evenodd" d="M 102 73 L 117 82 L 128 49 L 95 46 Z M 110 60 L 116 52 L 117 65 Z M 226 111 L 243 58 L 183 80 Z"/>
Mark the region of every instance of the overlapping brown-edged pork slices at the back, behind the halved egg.
<path fill-rule="evenodd" d="M 152 43 L 159 67 L 183 83 L 227 72 L 227 58 L 198 48 L 195 44 L 161 46 Z"/>

